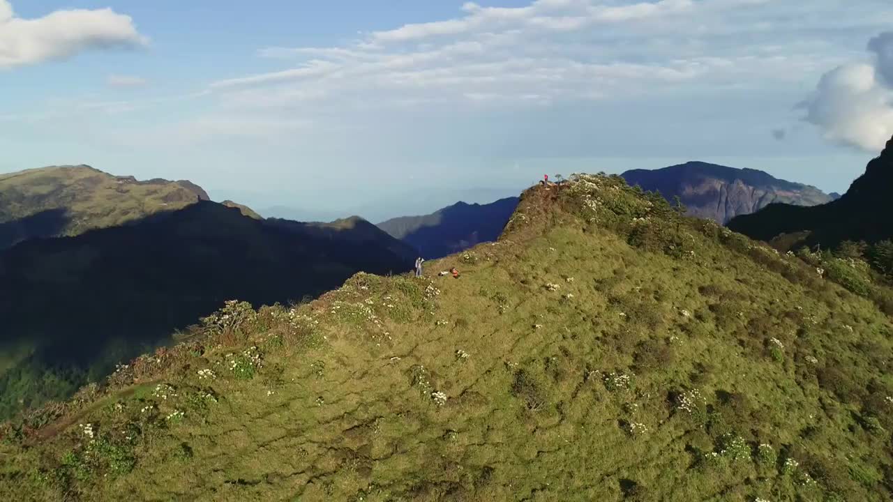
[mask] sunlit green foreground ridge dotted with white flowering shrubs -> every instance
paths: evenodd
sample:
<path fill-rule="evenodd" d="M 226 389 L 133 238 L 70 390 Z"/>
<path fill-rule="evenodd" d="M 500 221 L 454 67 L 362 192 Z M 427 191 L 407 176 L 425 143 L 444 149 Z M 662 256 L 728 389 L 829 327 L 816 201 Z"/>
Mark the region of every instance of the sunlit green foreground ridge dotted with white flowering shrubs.
<path fill-rule="evenodd" d="M 7 424 L 20 500 L 890 500 L 890 323 L 619 177 Z"/>

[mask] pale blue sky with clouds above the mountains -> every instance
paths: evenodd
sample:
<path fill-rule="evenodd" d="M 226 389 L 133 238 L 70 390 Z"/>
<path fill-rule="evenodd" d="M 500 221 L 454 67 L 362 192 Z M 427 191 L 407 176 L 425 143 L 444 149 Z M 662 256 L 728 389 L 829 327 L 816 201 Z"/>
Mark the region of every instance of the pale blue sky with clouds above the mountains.
<path fill-rule="evenodd" d="M 0 0 L 0 172 L 86 163 L 376 221 L 689 160 L 843 192 L 889 0 Z"/>

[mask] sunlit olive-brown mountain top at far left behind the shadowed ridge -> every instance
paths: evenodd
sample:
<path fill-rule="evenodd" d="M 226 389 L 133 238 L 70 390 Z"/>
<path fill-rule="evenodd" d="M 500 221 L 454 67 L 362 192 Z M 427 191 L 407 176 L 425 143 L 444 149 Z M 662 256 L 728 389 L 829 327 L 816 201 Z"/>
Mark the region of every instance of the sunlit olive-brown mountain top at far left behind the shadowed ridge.
<path fill-rule="evenodd" d="M 0 174 L 0 249 L 113 227 L 199 200 L 208 195 L 188 181 L 138 181 L 87 165 Z"/>

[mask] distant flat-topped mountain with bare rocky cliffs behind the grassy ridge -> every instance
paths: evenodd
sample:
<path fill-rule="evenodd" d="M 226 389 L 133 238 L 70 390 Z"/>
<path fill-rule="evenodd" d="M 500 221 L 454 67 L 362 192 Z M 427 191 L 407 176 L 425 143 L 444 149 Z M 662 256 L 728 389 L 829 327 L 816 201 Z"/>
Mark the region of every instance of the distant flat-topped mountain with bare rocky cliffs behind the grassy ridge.
<path fill-rule="evenodd" d="M 690 216 L 720 224 L 772 203 L 820 205 L 834 199 L 818 188 L 779 180 L 766 172 L 713 163 L 689 162 L 654 171 L 636 169 L 621 176 L 630 185 L 660 192 L 671 202 L 678 196 Z"/>

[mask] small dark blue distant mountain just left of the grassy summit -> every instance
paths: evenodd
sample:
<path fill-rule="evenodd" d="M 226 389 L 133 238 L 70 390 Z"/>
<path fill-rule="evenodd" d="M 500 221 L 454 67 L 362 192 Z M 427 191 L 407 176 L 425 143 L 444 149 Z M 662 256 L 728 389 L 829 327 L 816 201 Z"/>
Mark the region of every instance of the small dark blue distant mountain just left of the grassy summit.
<path fill-rule="evenodd" d="M 418 249 L 426 258 L 441 258 L 496 240 L 517 205 L 518 197 L 484 205 L 460 202 L 424 216 L 381 222 L 379 228 Z"/>

